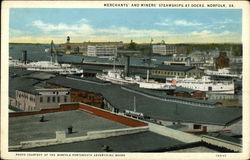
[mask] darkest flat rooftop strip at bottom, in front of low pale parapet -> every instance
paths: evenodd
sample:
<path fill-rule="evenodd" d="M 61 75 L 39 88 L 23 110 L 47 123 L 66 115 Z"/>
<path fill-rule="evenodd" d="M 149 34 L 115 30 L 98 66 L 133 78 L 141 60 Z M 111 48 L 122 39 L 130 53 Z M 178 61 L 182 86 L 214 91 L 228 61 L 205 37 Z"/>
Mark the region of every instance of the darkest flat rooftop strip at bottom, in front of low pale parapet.
<path fill-rule="evenodd" d="M 153 132 L 109 137 L 105 139 L 89 140 L 70 144 L 60 144 L 47 147 L 25 149 L 32 152 L 103 152 L 103 145 L 110 147 L 111 152 L 147 152 L 161 148 L 183 145 L 183 142 L 173 138 L 158 135 Z"/>

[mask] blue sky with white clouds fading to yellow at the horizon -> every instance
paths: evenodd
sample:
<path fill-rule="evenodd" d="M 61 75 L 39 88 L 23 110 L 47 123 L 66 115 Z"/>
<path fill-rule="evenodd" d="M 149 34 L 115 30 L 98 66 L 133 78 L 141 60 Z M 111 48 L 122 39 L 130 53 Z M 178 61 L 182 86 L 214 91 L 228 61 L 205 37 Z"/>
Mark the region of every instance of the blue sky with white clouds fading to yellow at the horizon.
<path fill-rule="evenodd" d="M 9 29 L 14 43 L 241 43 L 242 10 L 11 8 Z"/>

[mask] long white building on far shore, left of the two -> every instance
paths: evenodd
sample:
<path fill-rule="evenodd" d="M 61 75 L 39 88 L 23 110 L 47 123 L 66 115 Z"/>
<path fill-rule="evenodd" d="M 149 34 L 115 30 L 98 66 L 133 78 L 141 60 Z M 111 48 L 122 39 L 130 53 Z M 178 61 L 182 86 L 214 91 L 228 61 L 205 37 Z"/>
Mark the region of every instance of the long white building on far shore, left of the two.
<path fill-rule="evenodd" d="M 115 46 L 88 46 L 88 56 L 91 57 L 115 57 L 117 56 L 117 47 Z"/>

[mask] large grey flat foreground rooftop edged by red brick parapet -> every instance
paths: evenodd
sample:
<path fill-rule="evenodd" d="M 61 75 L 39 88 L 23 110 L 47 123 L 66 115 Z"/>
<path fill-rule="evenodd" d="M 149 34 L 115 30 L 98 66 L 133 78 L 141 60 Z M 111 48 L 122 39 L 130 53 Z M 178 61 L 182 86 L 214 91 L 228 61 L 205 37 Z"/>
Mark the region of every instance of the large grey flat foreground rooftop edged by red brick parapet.
<path fill-rule="evenodd" d="M 56 137 L 56 131 L 67 131 L 71 125 L 75 133 L 66 136 L 84 136 L 88 131 L 128 127 L 81 110 L 46 113 L 45 122 L 39 121 L 41 116 L 42 114 L 37 114 L 9 118 L 9 145 L 18 145 L 21 141 L 52 139 Z"/>

